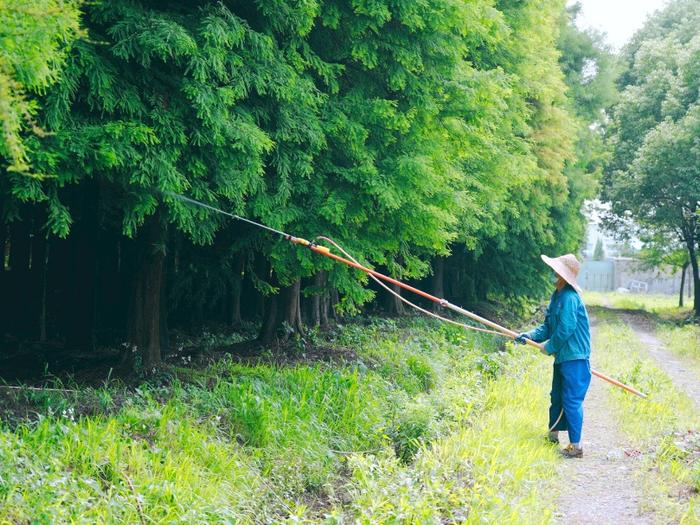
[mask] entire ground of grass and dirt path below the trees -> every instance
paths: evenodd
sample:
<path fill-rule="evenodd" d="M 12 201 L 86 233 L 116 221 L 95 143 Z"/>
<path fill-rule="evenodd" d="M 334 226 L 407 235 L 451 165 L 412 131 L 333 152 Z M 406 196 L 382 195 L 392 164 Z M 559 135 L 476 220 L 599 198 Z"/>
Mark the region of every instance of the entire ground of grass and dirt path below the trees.
<path fill-rule="evenodd" d="M 0 390 L 0 525 L 700 523 L 700 328 L 591 310 L 594 366 L 649 398 L 594 378 L 581 460 L 543 439 L 527 348 L 369 318 L 232 355 L 247 327 L 128 383 Z"/>

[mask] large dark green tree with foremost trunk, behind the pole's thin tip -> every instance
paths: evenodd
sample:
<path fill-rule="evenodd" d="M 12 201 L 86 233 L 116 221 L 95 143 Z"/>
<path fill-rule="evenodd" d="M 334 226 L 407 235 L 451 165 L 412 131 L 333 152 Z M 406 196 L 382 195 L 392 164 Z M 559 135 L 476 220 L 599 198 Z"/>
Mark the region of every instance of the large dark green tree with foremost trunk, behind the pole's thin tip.
<path fill-rule="evenodd" d="M 35 162 L 53 178 L 13 192 L 45 201 L 50 230 L 66 236 L 70 194 L 97 183 L 92 220 L 133 245 L 128 340 L 150 367 L 160 360 L 168 238 L 209 243 L 222 224 L 170 192 L 284 225 L 289 179 L 310 172 L 317 147 L 319 94 L 274 39 L 223 3 L 90 4 L 84 24 L 89 38 L 45 103 L 52 135 Z"/>

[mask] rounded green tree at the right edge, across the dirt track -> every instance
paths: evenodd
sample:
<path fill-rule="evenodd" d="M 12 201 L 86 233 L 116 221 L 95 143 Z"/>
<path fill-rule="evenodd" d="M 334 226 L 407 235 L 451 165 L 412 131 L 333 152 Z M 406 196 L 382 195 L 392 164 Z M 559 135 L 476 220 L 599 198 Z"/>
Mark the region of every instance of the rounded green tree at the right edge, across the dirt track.
<path fill-rule="evenodd" d="M 608 223 L 632 219 L 640 232 L 671 234 L 688 253 L 700 315 L 700 21 L 697 2 L 677 0 L 624 50 L 613 110 L 603 197 Z"/>

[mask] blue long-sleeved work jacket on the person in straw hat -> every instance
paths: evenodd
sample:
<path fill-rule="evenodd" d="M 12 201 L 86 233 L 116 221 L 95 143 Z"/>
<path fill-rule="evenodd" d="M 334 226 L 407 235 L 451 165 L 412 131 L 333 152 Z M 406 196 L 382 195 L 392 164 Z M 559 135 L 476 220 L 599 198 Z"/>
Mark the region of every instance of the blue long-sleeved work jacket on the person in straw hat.
<path fill-rule="evenodd" d="M 555 363 L 588 359 L 591 356 L 591 331 L 588 312 L 576 290 L 568 284 L 552 294 L 544 323 L 527 333 L 542 343 Z"/>

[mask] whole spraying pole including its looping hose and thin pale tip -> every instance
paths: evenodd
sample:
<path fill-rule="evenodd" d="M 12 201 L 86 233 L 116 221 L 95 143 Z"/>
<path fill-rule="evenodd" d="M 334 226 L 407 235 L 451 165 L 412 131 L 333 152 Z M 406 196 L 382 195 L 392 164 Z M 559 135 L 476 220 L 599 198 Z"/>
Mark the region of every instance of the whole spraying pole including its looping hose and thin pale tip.
<path fill-rule="evenodd" d="M 501 326 L 493 321 L 490 321 L 489 319 L 486 319 L 484 317 L 481 317 L 480 315 L 477 315 L 473 312 L 470 312 L 469 310 L 465 310 L 464 308 L 461 308 L 457 305 L 454 305 L 454 304 L 450 303 L 449 301 L 447 301 L 446 299 L 441 299 L 441 298 L 436 297 L 434 295 L 431 295 L 427 292 L 419 290 L 418 288 L 415 288 L 409 284 L 406 284 L 402 281 L 399 281 L 398 279 L 394 279 L 392 277 L 389 277 L 388 275 L 384 275 L 382 273 L 377 272 L 376 270 L 373 270 L 371 268 L 363 266 L 355 258 L 353 258 L 347 251 L 345 251 L 337 242 L 330 239 L 329 237 L 319 236 L 319 237 L 316 237 L 316 239 L 322 240 L 322 241 L 325 241 L 325 242 L 331 244 L 338 251 L 340 251 L 344 255 L 344 257 L 341 257 L 339 255 L 334 254 L 333 252 L 331 252 L 330 248 L 328 248 L 327 246 L 319 246 L 315 240 L 309 241 L 309 240 L 306 240 L 306 239 L 301 238 L 301 237 L 295 237 L 295 236 L 290 235 L 288 233 L 285 233 L 281 230 L 271 228 L 270 226 L 267 226 L 265 224 L 261 224 L 259 222 L 253 221 L 251 219 L 247 219 L 245 217 L 240 217 L 239 215 L 234 215 L 233 213 L 223 211 L 219 208 L 215 208 L 214 206 L 210 206 L 209 204 L 205 204 L 203 202 L 199 202 L 199 201 L 196 201 L 194 199 L 190 199 L 189 197 L 185 197 L 185 196 L 179 195 L 177 193 L 172 193 L 172 192 L 164 192 L 164 193 L 170 197 L 174 197 L 176 199 L 180 199 L 180 200 L 189 202 L 191 204 L 201 206 L 203 208 L 209 209 L 209 210 L 214 211 L 216 213 L 226 215 L 226 216 L 231 217 L 233 219 L 240 220 L 240 221 L 246 222 L 248 224 L 251 224 L 253 226 L 267 230 L 269 232 L 275 233 L 277 235 L 280 235 L 282 238 L 284 238 L 285 240 L 289 241 L 292 244 L 295 244 L 298 246 L 304 246 L 304 247 L 309 248 L 311 251 L 313 251 L 319 255 L 323 255 L 324 257 L 328 257 L 329 259 L 332 259 L 336 262 L 339 262 L 339 263 L 344 264 L 346 266 L 350 266 L 351 268 L 355 268 L 357 270 L 360 270 L 361 272 L 364 272 L 367 275 L 369 275 L 369 277 L 371 279 L 373 279 L 375 282 L 377 282 L 379 285 L 381 285 L 382 288 L 384 288 L 389 293 L 391 293 L 392 295 L 394 295 L 395 297 L 397 297 L 398 299 L 403 301 L 405 304 L 408 304 L 410 307 L 412 307 L 412 308 L 414 308 L 414 309 L 416 309 L 416 310 L 418 310 L 426 315 L 429 315 L 431 317 L 435 317 L 436 319 L 439 319 L 443 322 L 454 324 L 457 326 L 461 326 L 462 328 L 465 328 L 467 330 L 474 330 L 474 331 L 478 331 L 478 332 L 485 332 L 485 333 L 489 333 L 489 334 L 500 335 L 500 336 L 508 337 L 510 339 L 515 339 L 516 337 L 518 337 L 517 332 L 514 332 L 513 330 L 509 330 L 508 328 L 505 328 L 504 326 Z M 402 297 L 401 294 L 396 293 L 389 286 L 387 286 L 386 283 L 393 284 L 394 286 L 397 286 L 403 290 L 414 293 L 414 294 L 418 295 L 419 297 L 423 297 L 424 299 L 427 299 L 428 301 L 431 301 L 435 304 L 438 304 L 443 308 L 447 308 L 448 310 L 452 310 L 453 312 L 456 312 L 460 315 L 468 317 L 472 321 L 476 321 L 477 323 L 479 323 L 483 326 L 487 326 L 489 329 L 479 328 L 479 327 L 471 326 L 471 325 L 468 325 L 465 323 L 460 323 L 458 321 L 448 319 L 447 317 L 443 317 L 443 316 L 440 316 L 434 312 L 426 310 L 425 308 L 422 308 L 422 307 L 418 306 L 417 304 L 412 303 L 408 299 Z M 544 349 L 543 344 L 537 343 L 531 339 L 526 339 L 525 343 L 530 345 L 530 346 L 534 346 L 535 348 L 538 348 L 539 350 Z M 637 390 L 629 385 L 626 385 L 626 384 L 624 384 L 616 379 L 613 379 L 612 377 L 609 377 L 601 372 L 598 372 L 597 370 L 591 369 L 591 374 L 602 379 L 603 381 L 610 383 L 611 385 L 614 385 L 614 386 L 621 388 L 627 392 L 630 392 L 631 394 L 634 394 L 634 395 L 639 396 L 641 398 L 647 397 L 646 394 L 643 394 L 639 390 Z M 559 418 L 561 418 L 561 414 L 560 414 Z M 558 423 L 558 420 L 557 420 L 557 423 Z M 556 423 L 554 426 L 556 426 Z"/>

